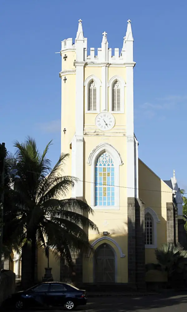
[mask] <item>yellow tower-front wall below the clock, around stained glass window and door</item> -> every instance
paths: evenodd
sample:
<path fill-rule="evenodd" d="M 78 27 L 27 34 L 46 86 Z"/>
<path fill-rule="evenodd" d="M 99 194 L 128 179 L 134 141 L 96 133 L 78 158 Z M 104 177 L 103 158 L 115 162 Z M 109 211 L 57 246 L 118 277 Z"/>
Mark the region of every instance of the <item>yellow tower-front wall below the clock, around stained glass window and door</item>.
<path fill-rule="evenodd" d="M 101 138 L 98 141 L 98 137 L 93 136 L 91 139 L 89 136 L 84 136 L 85 140 L 85 164 L 84 164 L 84 173 L 85 173 L 85 189 L 84 189 L 84 197 L 87 199 L 87 203 L 91 205 L 91 188 L 93 187 L 93 183 L 91 182 L 91 170 L 92 166 L 87 163 L 89 158 L 89 154 L 91 151 L 101 142 L 108 142 L 105 138 Z M 113 145 L 120 155 L 126 156 L 126 141 L 125 138 L 122 137 L 110 137 L 109 142 Z M 125 163 L 125 159 L 122 159 Z M 119 185 L 126 186 L 126 166 L 119 166 Z M 107 231 L 110 234 L 107 236 L 112 238 L 114 241 L 122 249 L 123 254 L 126 255 L 125 258 L 120 258 L 119 250 L 114 245 L 113 242 L 106 240 L 107 244 L 110 244 L 113 249 L 116 251 L 117 255 L 117 282 L 118 283 L 126 283 L 127 282 L 127 193 L 126 188 L 120 189 L 120 205 L 119 210 L 94 210 L 94 214 L 90 215 L 89 218 L 98 226 L 100 234 L 89 230 L 89 241 L 93 243 L 100 237 L 103 237 L 103 232 Z M 100 244 L 105 241 L 98 242 L 94 248 L 97 248 Z M 93 282 L 93 258 L 84 259 L 83 264 L 83 272 L 84 272 L 84 282 L 90 283 Z"/>

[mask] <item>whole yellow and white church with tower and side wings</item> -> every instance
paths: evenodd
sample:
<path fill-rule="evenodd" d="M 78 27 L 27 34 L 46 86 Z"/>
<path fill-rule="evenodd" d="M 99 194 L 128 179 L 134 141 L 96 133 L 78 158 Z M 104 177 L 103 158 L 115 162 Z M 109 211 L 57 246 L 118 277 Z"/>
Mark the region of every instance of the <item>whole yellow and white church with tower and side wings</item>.
<path fill-rule="evenodd" d="M 175 178 L 163 181 L 138 158 L 134 134 L 133 35 L 131 21 L 121 48 L 87 47 L 82 20 L 75 41 L 61 42 L 61 152 L 70 154 L 65 175 L 79 182 L 69 197 L 93 208 L 89 231 L 94 256 L 75 260 L 75 275 L 84 285 L 130 285 L 163 281 L 161 272 L 146 273 L 156 263 L 155 249 L 182 240 L 182 197 Z M 65 280 L 63 261 L 50 256 L 54 280 Z M 46 258 L 38 251 L 38 279 Z"/>

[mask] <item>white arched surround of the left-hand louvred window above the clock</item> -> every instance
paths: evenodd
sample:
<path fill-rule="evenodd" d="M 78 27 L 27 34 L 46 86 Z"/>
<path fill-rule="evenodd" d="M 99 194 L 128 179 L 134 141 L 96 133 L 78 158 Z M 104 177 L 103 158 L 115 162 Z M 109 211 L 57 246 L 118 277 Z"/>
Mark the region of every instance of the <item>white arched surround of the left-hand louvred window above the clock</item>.
<path fill-rule="evenodd" d="M 96 86 L 96 101 L 97 101 L 97 109 L 96 110 L 89 110 L 88 109 L 88 105 L 89 105 L 89 84 L 92 80 L 95 82 L 95 86 Z M 99 113 L 99 111 L 100 111 L 100 87 L 101 87 L 101 80 L 94 75 L 87 77 L 86 80 L 84 81 L 85 113 L 91 113 L 91 114 Z"/>

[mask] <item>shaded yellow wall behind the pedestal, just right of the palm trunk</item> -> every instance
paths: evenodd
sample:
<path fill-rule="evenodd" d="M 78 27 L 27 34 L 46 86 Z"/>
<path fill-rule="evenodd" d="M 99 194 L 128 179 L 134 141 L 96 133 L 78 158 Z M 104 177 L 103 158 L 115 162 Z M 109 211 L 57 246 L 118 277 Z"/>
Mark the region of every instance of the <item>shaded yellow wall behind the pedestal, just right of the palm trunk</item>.
<path fill-rule="evenodd" d="M 49 266 L 52 268 L 52 275 L 54 281 L 60 281 L 60 259 L 57 260 L 54 253 L 50 250 Z M 47 267 L 47 258 L 42 248 L 38 249 L 38 281 L 42 281 Z"/>

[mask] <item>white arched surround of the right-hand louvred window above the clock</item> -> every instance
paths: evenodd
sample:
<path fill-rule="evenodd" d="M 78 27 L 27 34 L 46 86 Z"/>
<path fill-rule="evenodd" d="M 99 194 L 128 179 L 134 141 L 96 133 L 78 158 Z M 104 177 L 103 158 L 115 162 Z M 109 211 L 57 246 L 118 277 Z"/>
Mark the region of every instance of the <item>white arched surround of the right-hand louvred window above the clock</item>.
<path fill-rule="evenodd" d="M 119 82 L 120 86 L 120 107 L 121 110 L 118 111 L 113 111 L 112 110 L 112 99 L 113 99 L 113 84 L 115 81 Z M 113 76 L 109 81 L 108 81 L 108 87 L 109 87 L 109 111 L 112 112 L 113 114 L 123 114 L 124 113 L 124 106 L 125 106 L 125 90 L 124 87 L 126 86 L 125 81 L 122 79 L 120 76 Z"/>

